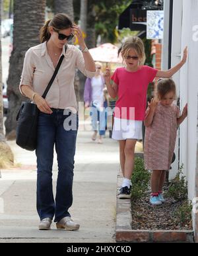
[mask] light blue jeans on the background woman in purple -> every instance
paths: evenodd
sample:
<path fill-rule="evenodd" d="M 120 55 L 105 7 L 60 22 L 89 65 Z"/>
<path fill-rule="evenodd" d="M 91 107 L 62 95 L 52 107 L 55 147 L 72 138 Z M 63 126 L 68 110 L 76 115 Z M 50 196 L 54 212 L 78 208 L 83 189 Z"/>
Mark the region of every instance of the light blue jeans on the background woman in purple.
<path fill-rule="evenodd" d="M 107 101 L 104 102 L 104 108 L 108 107 Z M 107 125 L 107 113 L 106 111 L 99 111 L 92 104 L 92 108 L 94 108 L 93 112 L 90 112 L 90 116 L 92 118 L 92 129 L 94 131 L 99 130 L 99 134 L 102 136 L 105 134 L 106 125 Z M 98 127 L 99 126 L 99 127 Z"/>

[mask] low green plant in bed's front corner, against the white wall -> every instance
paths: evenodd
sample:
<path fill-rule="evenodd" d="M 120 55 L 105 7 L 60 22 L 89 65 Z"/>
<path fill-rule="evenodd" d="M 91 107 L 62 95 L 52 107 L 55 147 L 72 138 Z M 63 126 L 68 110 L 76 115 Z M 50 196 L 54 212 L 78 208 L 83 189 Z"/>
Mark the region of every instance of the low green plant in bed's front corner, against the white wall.
<path fill-rule="evenodd" d="M 189 200 L 185 200 L 182 203 L 182 206 L 178 208 L 175 212 L 176 218 L 180 220 L 181 224 L 189 224 L 191 222 L 191 212 L 192 212 L 193 206 L 192 202 Z"/>

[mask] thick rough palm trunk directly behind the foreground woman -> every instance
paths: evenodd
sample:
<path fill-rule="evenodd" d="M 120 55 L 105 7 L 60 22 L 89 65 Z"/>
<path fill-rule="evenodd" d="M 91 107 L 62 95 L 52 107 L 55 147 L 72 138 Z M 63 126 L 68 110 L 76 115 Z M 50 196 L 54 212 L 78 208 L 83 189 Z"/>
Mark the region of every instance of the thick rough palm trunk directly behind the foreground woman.
<path fill-rule="evenodd" d="M 28 48 L 40 44 L 39 30 L 45 21 L 45 7 L 46 0 L 34 0 L 34 4 L 26 0 L 14 1 L 13 52 L 7 80 L 9 99 L 9 111 L 5 122 L 7 134 L 15 134 L 16 114 L 22 100 L 26 100 L 18 90 L 24 54 Z"/>

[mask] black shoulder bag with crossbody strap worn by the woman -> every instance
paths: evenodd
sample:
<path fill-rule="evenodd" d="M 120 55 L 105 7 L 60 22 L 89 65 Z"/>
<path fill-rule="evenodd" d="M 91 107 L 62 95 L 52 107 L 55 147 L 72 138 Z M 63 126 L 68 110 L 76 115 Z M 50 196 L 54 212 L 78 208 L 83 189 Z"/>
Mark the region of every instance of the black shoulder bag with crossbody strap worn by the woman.
<path fill-rule="evenodd" d="M 65 52 L 67 48 L 65 47 Z M 49 81 L 49 84 L 44 91 L 42 97 L 46 99 L 46 95 L 59 71 L 59 67 L 63 62 L 64 55 L 61 56 L 55 71 Z M 20 148 L 34 151 L 37 143 L 37 124 L 38 124 L 39 109 L 34 103 L 22 102 L 20 110 L 16 116 L 16 144 Z"/>

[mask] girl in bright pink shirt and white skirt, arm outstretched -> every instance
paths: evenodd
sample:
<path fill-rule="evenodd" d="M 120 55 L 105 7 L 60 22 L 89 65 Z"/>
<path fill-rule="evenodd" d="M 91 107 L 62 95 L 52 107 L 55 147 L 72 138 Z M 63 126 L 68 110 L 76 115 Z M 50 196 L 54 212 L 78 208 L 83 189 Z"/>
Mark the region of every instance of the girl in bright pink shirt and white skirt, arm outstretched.
<path fill-rule="evenodd" d="M 131 175 L 134 168 L 134 153 L 137 140 L 142 139 L 142 122 L 145 119 L 147 88 L 154 77 L 169 78 L 176 73 L 187 58 L 187 48 L 183 51 L 180 64 L 167 71 L 160 71 L 145 64 L 145 47 L 141 38 L 129 38 L 121 48 L 124 67 L 118 67 L 110 75 L 106 69 L 105 79 L 108 93 L 118 96 L 114 112 L 112 138 L 119 141 L 119 158 L 123 183 L 119 198 L 131 197 Z"/>

